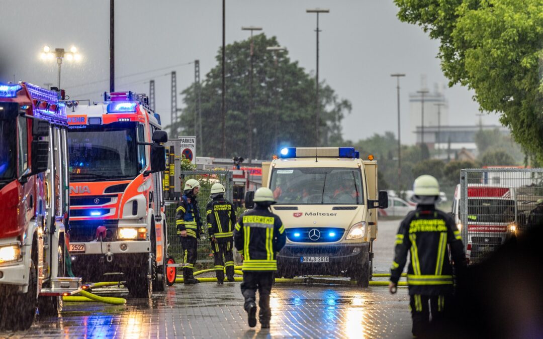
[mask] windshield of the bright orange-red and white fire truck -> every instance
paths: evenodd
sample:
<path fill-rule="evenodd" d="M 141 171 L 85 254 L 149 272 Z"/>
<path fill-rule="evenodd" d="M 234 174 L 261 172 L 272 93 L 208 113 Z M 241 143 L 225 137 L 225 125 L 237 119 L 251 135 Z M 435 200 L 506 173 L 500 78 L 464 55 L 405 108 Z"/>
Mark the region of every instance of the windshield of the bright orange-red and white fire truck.
<path fill-rule="evenodd" d="M 68 133 L 70 181 L 111 181 L 139 173 L 136 125 L 87 126 Z"/>

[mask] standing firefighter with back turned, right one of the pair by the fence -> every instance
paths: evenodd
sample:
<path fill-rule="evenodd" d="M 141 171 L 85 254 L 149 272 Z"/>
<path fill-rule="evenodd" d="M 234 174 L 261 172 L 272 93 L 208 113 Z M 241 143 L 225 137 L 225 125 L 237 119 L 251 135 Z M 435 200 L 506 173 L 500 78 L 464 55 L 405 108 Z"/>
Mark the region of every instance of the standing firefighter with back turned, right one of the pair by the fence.
<path fill-rule="evenodd" d="M 236 211 L 233 205 L 224 199 L 225 189 L 222 184 L 211 186 L 211 201 L 207 203 L 207 231 L 211 239 L 211 251 L 215 265 L 217 284 L 224 282 L 224 268 L 229 282 L 234 281 L 233 228 L 236 225 Z M 224 260 L 223 260 L 224 256 Z M 225 263 L 226 260 L 226 263 Z"/>

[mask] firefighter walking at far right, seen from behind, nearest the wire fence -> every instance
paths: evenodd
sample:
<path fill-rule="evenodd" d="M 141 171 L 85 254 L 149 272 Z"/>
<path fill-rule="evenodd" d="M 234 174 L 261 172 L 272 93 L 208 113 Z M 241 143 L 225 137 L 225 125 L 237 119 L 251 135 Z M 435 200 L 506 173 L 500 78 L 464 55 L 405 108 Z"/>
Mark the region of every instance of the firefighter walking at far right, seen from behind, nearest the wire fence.
<path fill-rule="evenodd" d="M 396 293 L 407 252 L 411 251 L 411 263 L 407 268 L 409 306 L 413 335 L 420 336 L 430 324 L 430 310 L 432 322 L 438 322 L 443 319 L 444 309 L 450 302 L 453 267 L 449 258 L 453 260 L 455 273 L 459 274 L 465 265 L 465 257 L 460 231 L 454 220 L 435 208 L 435 203 L 439 202 L 438 181 L 433 176 L 422 175 L 416 178 L 413 191 L 411 200 L 417 203 L 417 207 L 401 222 L 396 234 L 389 290 Z"/>

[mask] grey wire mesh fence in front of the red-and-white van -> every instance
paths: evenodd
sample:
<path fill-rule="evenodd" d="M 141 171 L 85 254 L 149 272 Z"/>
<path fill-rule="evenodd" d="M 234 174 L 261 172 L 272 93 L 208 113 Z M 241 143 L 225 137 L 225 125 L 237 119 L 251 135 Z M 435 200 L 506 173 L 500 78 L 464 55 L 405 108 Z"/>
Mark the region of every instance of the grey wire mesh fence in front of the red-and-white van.
<path fill-rule="evenodd" d="M 543 169 L 463 169 L 456 195 L 464 248 L 480 263 L 543 218 Z"/>

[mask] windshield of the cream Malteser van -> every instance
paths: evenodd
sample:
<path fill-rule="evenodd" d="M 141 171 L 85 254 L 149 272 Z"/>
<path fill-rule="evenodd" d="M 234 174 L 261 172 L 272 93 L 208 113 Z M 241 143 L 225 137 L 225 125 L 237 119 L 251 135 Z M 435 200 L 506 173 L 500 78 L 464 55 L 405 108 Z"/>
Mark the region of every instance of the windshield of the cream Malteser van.
<path fill-rule="evenodd" d="M 353 168 L 281 168 L 270 189 L 279 204 L 364 204 L 362 173 Z"/>

